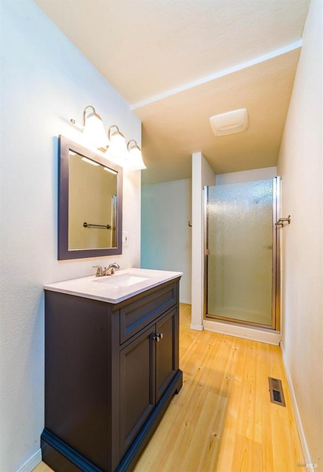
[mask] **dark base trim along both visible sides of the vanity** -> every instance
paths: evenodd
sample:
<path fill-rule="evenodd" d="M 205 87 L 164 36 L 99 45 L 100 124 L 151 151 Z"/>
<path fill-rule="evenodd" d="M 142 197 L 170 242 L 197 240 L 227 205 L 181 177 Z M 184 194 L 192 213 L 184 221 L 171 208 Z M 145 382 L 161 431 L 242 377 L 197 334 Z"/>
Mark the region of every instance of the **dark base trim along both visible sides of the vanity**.
<path fill-rule="evenodd" d="M 183 372 L 179 369 L 166 392 L 148 417 L 140 433 L 126 452 L 116 472 L 129 472 L 133 469 L 140 453 L 153 435 L 161 417 L 163 417 L 173 395 L 179 393 L 182 385 Z M 53 470 L 64 470 L 64 472 L 102 472 L 101 469 L 96 467 L 92 462 L 46 428 L 41 434 L 41 455 L 43 462 L 49 465 Z"/>

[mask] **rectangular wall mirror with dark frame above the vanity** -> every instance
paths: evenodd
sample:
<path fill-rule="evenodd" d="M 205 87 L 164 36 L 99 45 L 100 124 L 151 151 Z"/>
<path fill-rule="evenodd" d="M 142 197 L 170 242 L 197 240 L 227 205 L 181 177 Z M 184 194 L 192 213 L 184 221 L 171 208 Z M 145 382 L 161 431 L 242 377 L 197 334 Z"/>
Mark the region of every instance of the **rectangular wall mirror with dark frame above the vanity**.
<path fill-rule="evenodd" d="M 59 141 L 58 260 L 122 254 L 122 167 Z"/>

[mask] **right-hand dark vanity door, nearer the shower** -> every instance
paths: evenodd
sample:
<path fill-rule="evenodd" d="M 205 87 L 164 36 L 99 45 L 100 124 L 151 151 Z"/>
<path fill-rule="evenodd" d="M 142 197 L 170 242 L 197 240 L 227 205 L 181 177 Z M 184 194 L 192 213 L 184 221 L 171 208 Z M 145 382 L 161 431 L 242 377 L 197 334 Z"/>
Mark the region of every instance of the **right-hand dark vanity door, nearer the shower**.
<path fill-rule="evenodd" d="M 156 323 L 156 403 L 163 395 L 179 368 L 177 349 L 179 337 L 178 308 L 171 310 Z"/>

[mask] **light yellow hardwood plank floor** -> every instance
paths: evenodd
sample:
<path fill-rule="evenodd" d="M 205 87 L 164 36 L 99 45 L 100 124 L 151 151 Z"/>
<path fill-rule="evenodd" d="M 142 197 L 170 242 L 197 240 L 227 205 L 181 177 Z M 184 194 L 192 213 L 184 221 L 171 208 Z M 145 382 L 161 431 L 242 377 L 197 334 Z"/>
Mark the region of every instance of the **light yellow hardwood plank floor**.
<path fill-rule="evenodd" d="M 192 331 L 190 308 L 181 304 L 183 388 L 134 472 L 299 470 L 302 452 L 280 348 Z M 268 376 L 282 380 L 286 407 L 271 403 Z M 34 472 L 50 470 L 42 462 Z"/>

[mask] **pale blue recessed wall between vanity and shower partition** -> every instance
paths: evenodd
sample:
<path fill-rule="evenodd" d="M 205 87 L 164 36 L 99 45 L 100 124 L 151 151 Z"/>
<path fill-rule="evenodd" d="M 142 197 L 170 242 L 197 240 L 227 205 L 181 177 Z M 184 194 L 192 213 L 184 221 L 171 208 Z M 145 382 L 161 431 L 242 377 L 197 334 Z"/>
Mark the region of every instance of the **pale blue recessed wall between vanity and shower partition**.
<path fill-rule="evenodd" d="M 183 303 L 191 303 L 191 185 L 183 179 L 143 185 L 141 190 L 141 267 L 183 272 Z"/>

